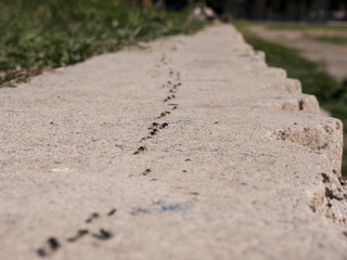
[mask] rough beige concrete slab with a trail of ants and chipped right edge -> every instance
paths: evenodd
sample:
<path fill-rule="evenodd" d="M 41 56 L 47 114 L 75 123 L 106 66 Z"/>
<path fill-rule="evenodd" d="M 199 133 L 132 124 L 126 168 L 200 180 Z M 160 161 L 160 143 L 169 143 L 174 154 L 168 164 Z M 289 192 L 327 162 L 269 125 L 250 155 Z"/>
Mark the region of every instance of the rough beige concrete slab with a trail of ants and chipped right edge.
<path fill-rule="evenodd" d="M 0 90 L 0 259 L 347 259 L 343 126 L 300 91 L 227 25 Z"/>

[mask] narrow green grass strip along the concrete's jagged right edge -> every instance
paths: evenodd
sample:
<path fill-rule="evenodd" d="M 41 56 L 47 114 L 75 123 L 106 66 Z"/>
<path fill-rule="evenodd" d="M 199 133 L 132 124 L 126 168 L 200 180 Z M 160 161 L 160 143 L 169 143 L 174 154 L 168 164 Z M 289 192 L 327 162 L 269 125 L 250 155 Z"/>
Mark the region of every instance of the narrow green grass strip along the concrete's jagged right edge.
<path fill-rule="evenodd" d="M 347 134 L 347 80 L 338 82 L 322 68 L 322 64 L 304 58 L 297 49 L 258 38 L 249 31 L 247 22 L 239 21 L 234 25 L 254 49 L 266 53 L 267 63 L 270 66 L 282 67 L 286 69 L 288 77 L 299 79 L 303 91 L 316 95 L 323 108 L 332 113 L 332 116 L 339 118 L 344 122 L 345 134 Z M 343 174 L 347 177 L 346 148 Z"/>

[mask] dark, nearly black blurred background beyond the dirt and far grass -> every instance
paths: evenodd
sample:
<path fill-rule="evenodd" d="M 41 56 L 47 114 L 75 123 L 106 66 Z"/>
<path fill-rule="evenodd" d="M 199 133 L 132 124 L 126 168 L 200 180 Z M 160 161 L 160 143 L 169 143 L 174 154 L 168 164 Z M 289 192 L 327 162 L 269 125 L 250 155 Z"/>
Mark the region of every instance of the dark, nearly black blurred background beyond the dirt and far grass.
<path fill-rule="evenodd" d="M 192 2 L 194 1 L 166 0 L 166 8 L 179 10 Z M 346 0 L 206 0 L 205 2 L 218 14 L 230 13 L 237 18 L 324 22 L 344 21 L 347 17 Z"/>

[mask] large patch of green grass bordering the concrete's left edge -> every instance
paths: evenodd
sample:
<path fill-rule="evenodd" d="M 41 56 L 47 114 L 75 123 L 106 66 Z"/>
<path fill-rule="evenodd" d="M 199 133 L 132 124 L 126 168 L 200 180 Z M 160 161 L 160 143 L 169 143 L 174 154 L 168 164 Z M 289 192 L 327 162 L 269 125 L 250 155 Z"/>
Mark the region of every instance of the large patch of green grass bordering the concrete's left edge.
<path fill-rule="evenodd" d="M 1 0 L 0 87 L 139 41 L 193 34 L 189 12 L 141 12 L 133 0 Z"/>

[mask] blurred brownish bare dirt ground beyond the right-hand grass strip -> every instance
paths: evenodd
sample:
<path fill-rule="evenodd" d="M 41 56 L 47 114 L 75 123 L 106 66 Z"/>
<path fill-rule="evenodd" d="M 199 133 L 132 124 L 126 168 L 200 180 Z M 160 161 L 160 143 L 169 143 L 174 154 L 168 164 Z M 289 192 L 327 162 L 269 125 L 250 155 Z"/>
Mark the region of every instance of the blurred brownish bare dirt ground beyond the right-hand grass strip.
<path fill-rule="evenodd" d="M 347 46 L 321 42 L 312 39 L 318 36 L 344 36 L 347 31 L 333 30 L 280 30 L 264 25 L 253 25 L 250 29 L 260 38 L 275 41 L 303 51 L 303 55 L 314 62 L 323 62 L 327 72 L 336 79 L 347 77 Z"/>

